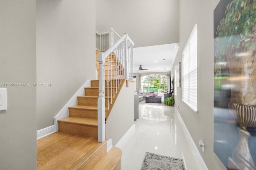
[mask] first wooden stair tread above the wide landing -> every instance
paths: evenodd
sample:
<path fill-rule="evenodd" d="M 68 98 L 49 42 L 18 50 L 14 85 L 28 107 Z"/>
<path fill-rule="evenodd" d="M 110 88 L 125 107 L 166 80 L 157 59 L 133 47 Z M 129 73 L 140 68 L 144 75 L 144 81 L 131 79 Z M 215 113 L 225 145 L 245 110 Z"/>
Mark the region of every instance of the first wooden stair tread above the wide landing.
<path fill-rule="evenodd" d="M 98 126 L 98 120 L 97 119 L 88 119 L 88 118 L 83 118 L 83 117 L 64 117 L 62 119 L 58 119 L 58 122 Z"/>

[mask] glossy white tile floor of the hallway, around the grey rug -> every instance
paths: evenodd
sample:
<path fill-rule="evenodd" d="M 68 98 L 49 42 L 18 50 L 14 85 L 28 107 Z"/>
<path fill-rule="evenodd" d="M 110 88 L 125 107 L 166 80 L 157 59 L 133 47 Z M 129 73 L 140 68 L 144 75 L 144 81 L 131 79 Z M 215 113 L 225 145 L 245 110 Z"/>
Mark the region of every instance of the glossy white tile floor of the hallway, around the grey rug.
<path fill-rule="evenodd" d="M 174 107 L 139 104 L 139 119 L 116 147 L 122 170 L 140 170 L 145 152 L 183 158 L 186 170 L 204 170 L 181 128 Z"/>

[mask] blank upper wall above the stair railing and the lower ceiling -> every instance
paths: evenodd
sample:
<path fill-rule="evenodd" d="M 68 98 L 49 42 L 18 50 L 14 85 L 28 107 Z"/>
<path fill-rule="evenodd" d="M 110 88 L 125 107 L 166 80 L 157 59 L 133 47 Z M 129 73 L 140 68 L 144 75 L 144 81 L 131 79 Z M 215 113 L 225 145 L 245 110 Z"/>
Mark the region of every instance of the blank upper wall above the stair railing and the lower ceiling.
<path fill-rule="evenodd" d="M 178 43 L 178 0 L 96 0 L 96 31 L 125 32 L 134 47 Z"/>

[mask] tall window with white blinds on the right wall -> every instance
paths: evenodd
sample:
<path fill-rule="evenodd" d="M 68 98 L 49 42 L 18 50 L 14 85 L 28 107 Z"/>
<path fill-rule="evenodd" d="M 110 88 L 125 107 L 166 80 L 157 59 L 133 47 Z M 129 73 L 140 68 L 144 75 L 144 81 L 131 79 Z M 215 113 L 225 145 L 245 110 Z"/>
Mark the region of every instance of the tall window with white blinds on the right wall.
<path fill-rule="evenodd" d="M 197 26 L 182 51 L 182 101 L 197 111 Z"/>

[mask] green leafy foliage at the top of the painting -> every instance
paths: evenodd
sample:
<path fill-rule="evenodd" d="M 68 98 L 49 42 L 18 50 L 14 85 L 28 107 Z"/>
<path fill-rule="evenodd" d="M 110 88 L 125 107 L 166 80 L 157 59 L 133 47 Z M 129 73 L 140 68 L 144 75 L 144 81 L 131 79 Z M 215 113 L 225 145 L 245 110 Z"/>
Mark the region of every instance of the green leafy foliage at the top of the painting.
<path fill-rule="evenodd" d="M 216 32 L 216 64 L 214 72 L 216 78 L 220 78 L 221 63 L 225 55 L 235 54 L 239 57 L 238 49 L 247 51 L 250 47 L 256 47 L 256 1 L 232 0 L 226 7 L 226 16 L 220 21 Z M 254 61 L 256 61 L 256 53 Z"/>

